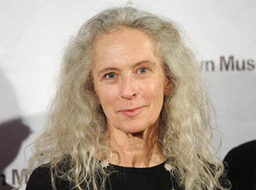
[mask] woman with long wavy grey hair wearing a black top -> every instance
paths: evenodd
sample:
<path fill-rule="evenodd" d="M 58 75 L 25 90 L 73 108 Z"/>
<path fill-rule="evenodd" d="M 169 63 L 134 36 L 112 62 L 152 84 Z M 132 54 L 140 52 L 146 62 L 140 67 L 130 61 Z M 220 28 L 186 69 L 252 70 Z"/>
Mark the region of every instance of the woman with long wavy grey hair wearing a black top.
<path fill-rule="evenodd" d="M 87 21 L 66 49 L 30 189 L 225 189 L 209 100 L 174 23 L 130 7 Z"/>

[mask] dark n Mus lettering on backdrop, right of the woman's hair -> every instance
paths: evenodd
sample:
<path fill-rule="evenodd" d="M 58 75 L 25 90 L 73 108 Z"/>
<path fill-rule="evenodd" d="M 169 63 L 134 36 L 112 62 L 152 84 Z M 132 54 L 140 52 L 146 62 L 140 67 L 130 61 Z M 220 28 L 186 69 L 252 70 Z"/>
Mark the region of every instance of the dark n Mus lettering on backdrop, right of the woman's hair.
<path fill-rule="evenodd" d="M 234 55 L 220 56 L 218 61 L 201 62 L 202 71 L 254 71 L 256 61 L 253 59 L 236 59 Z"/>

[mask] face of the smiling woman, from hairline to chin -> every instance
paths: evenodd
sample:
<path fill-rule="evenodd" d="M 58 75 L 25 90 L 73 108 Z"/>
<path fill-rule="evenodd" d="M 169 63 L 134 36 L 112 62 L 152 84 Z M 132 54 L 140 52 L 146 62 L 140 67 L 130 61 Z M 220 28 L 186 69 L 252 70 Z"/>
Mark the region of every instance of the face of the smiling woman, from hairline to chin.
<path fill-rule="evenodd" d="M 133 134 L 158 126 L 170 83 L 147 34 L 121 28 L 98 37 L 93 49 L 93 78 L 108 128 Z"/>

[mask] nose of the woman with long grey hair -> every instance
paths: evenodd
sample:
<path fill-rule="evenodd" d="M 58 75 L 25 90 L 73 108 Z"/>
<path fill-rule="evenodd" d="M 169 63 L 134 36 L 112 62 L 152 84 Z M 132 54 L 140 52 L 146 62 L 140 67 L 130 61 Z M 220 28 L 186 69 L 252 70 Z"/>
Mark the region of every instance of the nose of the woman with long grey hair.
<path fill-rule="evenodd" d="M 126 76 L 121 79 L 120 96 L 123 99 L 134 99 L 138 96 L 137 84 L 134 78 Z"/>

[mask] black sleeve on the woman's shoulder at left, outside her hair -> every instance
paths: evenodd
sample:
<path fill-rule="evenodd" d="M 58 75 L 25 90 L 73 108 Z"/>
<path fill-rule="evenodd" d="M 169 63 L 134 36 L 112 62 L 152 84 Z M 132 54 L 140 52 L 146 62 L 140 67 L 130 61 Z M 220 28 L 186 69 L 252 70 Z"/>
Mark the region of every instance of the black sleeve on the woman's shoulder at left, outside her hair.
<path fill-rule="evenodd" d="M 36 168 L 29 177 L 26 190 L 52 190 L 51 170 L 49 167 Z"/>

